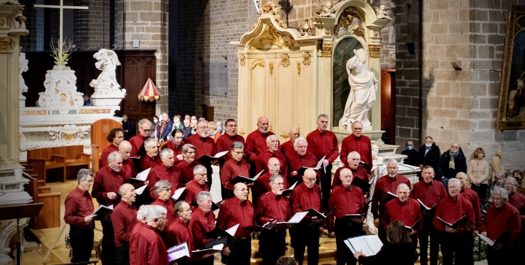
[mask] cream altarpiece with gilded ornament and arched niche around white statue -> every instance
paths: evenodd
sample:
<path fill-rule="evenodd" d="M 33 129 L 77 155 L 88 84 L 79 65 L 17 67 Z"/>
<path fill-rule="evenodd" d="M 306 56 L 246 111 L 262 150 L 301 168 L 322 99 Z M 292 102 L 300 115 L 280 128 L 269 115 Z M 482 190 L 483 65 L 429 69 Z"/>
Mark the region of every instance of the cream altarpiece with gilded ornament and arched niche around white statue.
<path fill-rule="evenodd" d="M 302 36 L 286 28 L 275 5 L 267 3 L 251 30 L 232 43 L 239 58 L 239 132 L 255 130 L 261 115 L 277 134 L 297 124 L 303 134 L 312 131 L 320 113 L 328 114 L 332 125 L 334 114 L 343 111 L 334 109 L 334 59 L 339 55 L 333 51 L 344 39 L 356 40 L 367 51 L 367 64 L 381 82 L 379 30 L 388 20 L 377 19 L 374 9 L 361 0 L 340 2 L 329 12 L 333 17 L 312 17 L 313 36 Z M 374 130 L 380 129 L 380 93 L 370 115 Z M 348 94 L 342 97 L 346 100 Z"/>

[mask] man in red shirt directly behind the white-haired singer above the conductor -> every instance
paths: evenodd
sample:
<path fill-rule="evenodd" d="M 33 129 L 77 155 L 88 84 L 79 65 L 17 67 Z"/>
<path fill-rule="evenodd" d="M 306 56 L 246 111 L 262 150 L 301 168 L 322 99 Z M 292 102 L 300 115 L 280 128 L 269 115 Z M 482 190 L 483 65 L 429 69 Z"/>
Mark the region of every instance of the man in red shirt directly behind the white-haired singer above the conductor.
<path fill-rule="evenodd" d="M 372 196 L 372 215 L 374 216 L 374 225 L 379 228 L 379 238 L 383 243 L 386 242 L 386 230 L 379 225 L 379 219 L 384 213 L 387 201 L 383 199 L 385 193 L 396 193 L 397 186 L 405 183 L 411 187 L 410 181 L 403 175 L 397 174 L 397 161 L 391 159 L 386 162 L 387 174 L 378 178 L 375 182 L 374 195 Z"/>

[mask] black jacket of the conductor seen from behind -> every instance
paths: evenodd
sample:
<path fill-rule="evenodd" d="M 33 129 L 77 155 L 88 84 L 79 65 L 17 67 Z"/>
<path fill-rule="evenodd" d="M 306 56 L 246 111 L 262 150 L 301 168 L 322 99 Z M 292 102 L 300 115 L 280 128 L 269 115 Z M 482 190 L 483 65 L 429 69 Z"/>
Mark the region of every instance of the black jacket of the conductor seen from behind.
<path fill-rule="evenodd" d="M 362 265 L 414 265 L 419 255 L 417 255 L 414 245 L 386 243 L 381 250 L 374 256 L 359 257 Z"/>

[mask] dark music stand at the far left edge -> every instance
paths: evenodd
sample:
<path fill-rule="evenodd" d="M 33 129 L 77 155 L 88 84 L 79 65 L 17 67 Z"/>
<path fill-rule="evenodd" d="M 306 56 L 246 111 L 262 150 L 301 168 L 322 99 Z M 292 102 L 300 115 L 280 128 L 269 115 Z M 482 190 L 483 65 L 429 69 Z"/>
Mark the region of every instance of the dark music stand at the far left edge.
<path fill-rule="evenodd" d="M 13 204 L 0 206 L 0 220 L 16 219 L 16 264 L 20 265 L 20 218 L 31 218 L 38 215 L 44 203 Z"/>

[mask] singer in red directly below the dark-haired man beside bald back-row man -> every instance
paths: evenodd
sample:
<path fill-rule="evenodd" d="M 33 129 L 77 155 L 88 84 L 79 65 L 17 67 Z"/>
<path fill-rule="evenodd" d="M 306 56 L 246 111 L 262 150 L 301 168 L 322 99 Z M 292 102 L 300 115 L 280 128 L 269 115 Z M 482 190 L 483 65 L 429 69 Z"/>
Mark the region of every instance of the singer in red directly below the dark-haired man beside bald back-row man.
<path fill-rule="evenodd" d="M 232 198 L 233 184 L 230 183 L 237 176 L 250 177 L 248 162 L 243 159 L 244 144 L 241 142 L 233 142 L 230 151 L 230 160 L 228 160 L 220 169 L 220 191 L 222 198 Z"/>

